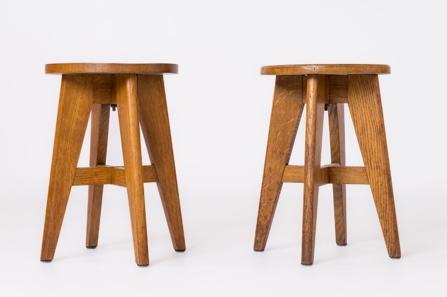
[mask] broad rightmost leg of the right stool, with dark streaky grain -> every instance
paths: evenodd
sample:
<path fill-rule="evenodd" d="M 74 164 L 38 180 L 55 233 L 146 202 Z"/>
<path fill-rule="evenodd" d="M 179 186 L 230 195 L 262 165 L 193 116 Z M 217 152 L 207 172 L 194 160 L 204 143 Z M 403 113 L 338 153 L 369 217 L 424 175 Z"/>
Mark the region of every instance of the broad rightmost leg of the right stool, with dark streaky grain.
<path fill-rule="evenodd" d="M 401 247 L 377 74 L 348 75 L 348 106 L 388 255 L 400 258 Z"/>

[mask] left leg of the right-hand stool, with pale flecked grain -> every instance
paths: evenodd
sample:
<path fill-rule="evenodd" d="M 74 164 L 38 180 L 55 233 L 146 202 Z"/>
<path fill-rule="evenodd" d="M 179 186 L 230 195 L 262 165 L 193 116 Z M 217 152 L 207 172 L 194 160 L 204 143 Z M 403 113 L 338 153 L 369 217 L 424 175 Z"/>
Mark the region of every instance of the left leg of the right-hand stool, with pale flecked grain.
<path fill-rule="evenodd" d="M 253 247 L 255 251 L 263 251 L 266 247 L 279 193 L 283 186 L 281 180 L 284 168 L 289 163 L 304 109 L 302 83 L 302 75 L 276 76 Z"/>

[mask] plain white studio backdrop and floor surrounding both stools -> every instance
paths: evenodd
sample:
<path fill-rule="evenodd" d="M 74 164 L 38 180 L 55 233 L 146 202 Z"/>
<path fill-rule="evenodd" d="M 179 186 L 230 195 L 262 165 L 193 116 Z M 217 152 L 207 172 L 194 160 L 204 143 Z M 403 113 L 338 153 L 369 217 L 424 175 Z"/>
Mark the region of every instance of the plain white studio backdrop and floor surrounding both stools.
<path fill-rule="evenodd" d="M 0 292 L 4 296 L 289 296 L 445 289 L 442 1 L 4 1 L 0 17 Z M 177 63 L 165 76 L 186 252 L 145 185 L 148 268 L 137 268 L 124 188 L 105 186 L 100 242 L 84 248 L 87 186 L 73 187 L 55 260 L 39 262 L 60 76 L 44 64 Z M 390 260 L 371 191 L 347 186 L 337 247 L 320 189 L 315 262 L 300 263 L 303 186 L 283 186 L 269 242 L 253 238 L 274 77 L 263 65 L 388 64 L 380 76 L 402 258 Z M 362 165 L 349 111 L 346 164 Z M 330 163 L 327 117 L 322 164 Z M 304 117 L 290 164 L 304 165 Z M 89 164 L 88 128 L 79 165 Z M 143 148 L 145 152 L 145 148 Z M 117 113 L 107 164 L 122 165 Z M 149 164 L 147 154 L 143 164 Z M 365 288 L 367 290 L 365 291 Z"/>

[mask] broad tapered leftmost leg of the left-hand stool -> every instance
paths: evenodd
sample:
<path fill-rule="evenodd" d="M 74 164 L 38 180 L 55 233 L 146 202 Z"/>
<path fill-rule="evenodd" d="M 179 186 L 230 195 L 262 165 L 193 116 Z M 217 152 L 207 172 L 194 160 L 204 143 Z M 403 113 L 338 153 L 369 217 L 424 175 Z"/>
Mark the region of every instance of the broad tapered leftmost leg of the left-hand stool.
<path fill-rule="evenodd" d="M 51 262 L 54 258 L 92 102 L 92 75 L 62 75 L 40 256 L 42 262 Z"/>

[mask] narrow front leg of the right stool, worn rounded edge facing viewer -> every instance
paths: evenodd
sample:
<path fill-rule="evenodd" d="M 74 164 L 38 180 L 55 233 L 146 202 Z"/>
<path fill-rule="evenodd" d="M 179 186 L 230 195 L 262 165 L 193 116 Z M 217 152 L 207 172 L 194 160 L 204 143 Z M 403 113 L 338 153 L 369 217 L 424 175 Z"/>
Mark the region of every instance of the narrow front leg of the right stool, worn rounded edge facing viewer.
<path fill-rule="evenodd" d="M 320 161 L 325 113 L 325 75 L 309 74 L 307 82 L 306 150 L 301 264 L 312 265 L 315 247 L 318 188 L 322 184 Z"/>

